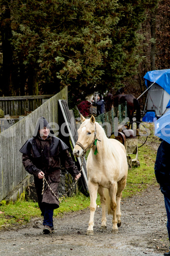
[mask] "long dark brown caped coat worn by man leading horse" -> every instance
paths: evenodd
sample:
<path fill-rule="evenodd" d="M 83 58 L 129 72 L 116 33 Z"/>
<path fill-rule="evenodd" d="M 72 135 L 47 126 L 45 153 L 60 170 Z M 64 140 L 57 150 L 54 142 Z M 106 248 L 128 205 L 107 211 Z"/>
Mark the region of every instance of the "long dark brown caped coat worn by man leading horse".
<path fill-rule="evenodd" d="M 77 166 L 68 152 L 68 146 L 55 136 L 42 140 L 37 135 L 29 139 L 20 149 L 20 152 L 23 153 L 23 165 L 26 171 L 34 175 L 41 211 L 43 212 L 44 204 L 48 204 L 48 207 L 50 206 L 52 209 L 58 208 L 59 202 L 46 184 L 44 193 L 41 195 L 42 179 L 37 176 L 40 171 L 44 172 L 48 184 L 58 197 L 57 188 L 60 181 L 61 165 L 73 177 L 79 174 Z"/>

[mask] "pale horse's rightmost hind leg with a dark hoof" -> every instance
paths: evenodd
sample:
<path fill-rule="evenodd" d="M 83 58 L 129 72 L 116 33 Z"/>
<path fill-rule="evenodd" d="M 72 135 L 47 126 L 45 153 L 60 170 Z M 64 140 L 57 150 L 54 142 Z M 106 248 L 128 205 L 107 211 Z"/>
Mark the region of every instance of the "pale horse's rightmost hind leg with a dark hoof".
<path fill-rule="evenodd" d="M 118 181 L 118 188 L 117 188 L 117 194 L 116 194 L 116 202 L 117 202 L 117 211 L 116 211 L 116 217 L 117 217 L 117 226 L 121 226 L 121 211 L 120 211 L 120 201 L 122 198 L 122 191 L 125 189 L 126 186 L 126 178 L 123 178 L 122 180 Z"/>

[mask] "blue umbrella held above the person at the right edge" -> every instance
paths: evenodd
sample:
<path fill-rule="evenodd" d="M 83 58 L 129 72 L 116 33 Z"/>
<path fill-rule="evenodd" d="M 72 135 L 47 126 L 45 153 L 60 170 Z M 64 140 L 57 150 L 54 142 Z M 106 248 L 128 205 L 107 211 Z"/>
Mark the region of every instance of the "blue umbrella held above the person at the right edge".
<path fill-rule="evenodd" d="M 170 143 L 170 110 L 154 122 L 155 136 Z"/>

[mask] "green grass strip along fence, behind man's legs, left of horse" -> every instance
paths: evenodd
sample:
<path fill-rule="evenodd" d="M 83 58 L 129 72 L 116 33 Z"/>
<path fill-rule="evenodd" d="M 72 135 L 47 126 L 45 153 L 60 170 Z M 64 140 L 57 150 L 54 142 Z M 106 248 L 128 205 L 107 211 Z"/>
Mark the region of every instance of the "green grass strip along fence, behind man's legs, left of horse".
<path fill-rule="evenodd" d="M 97 198 L 96 203 L 100 201 Z M 60 203 L 60 207 L 54 210 L 54 217 L 62 217 L 65 212 L 76 212 L 90 205 L 90 198 L 82 193 L 78 193 L 74 197 L 64 198 Z M 16 226 L 26 224 L 33 217 L 40 217 L 41 211 L 38 203 L 33 201 L 15 201 L 0 206 L 0 227 Z"/>

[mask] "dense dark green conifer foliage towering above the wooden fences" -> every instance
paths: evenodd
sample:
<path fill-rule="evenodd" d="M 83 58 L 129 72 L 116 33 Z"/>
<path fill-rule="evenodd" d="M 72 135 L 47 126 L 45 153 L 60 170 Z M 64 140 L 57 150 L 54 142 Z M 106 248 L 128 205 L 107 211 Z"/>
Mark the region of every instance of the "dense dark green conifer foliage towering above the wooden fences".
<path fill-rule="evenodd" d="M 34 81 L 31 76 L 37 77 L 41 93 L 51 93 L 51 85 L 55 85 L 53 92 L 67 85 L 76 96 L 118 87 L 125 76 L 136 73 L 142 61 L 138 30 L 145 4 L 12 1 L 10 42 L 16 74 L 25 77 L 23 83 L 28 79 L 28 87 Z M 4 1 L 1 12 L 7 8 Z"/>

